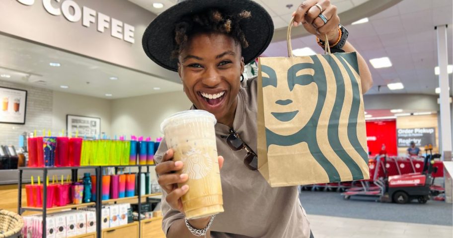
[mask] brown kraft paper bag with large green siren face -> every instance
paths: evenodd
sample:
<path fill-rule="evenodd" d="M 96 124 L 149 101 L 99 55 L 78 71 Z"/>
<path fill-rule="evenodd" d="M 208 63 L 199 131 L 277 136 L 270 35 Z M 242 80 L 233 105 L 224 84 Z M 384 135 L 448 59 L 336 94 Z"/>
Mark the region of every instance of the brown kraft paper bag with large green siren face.
<path fill-rule="evenodd" d="M 369 179 L 356 53 L 258 61 L 258 169 L 271 187 Z M 326 51 L 328 46 L 326 47 Z"/>

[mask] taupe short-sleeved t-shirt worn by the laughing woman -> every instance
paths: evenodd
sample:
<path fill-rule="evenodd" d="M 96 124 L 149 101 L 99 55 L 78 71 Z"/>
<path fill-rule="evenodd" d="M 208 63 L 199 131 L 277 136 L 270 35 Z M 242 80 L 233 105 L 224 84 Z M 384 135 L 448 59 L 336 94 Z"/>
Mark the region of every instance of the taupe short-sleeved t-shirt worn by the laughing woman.
<path fill-rule="evenodd" d="M 233 129 L 257 152 L 257 79 L 243 82 L 237 95 Z M 193 107 L 192 107 L 193 108 Z M 229 127 L 217 123 L 217 150 L 225 158 L 221 170 L 224 213 L 218 214 L 211 227 L 212 238 L 309 238 L 310 225 L 299 200 L 297 186 L 271 188 L 258 170 L 244 166 L 244 150 L 232 151 L 225 138 Z M 160 162 L 167 150 L 160 143 L 154 159 Z M 189 188 L 190 189 L 190 188 Z M 184 215 L 170 208 L 162 195 L 162 229 L 165 234 Z"/>

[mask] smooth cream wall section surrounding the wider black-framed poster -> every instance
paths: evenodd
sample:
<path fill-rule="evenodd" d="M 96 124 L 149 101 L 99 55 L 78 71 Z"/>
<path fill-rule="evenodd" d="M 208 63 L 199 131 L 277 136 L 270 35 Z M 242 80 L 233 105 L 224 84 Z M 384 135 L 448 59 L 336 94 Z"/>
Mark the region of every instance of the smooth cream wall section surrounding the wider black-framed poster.
<path fill-rule="evenodd" d="M 101 132 L 111 134 L 111 100 L 53 91 L 52 130 L 65 129 L 66 115 L 101 118 Z"/>

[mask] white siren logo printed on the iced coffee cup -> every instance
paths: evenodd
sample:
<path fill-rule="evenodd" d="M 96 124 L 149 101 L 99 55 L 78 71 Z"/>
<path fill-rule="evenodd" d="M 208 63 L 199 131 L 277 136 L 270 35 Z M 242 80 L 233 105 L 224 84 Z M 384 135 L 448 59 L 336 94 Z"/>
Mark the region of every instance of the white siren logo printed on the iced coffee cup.
<path fill-rule="evenodd" d="M 183 172 L 189 174 L 190 179 L 201 179 L 206 177 L 212 169 L 213 162 L 208 153 L 192 148 L 181 157 L 186 165 Z"/>

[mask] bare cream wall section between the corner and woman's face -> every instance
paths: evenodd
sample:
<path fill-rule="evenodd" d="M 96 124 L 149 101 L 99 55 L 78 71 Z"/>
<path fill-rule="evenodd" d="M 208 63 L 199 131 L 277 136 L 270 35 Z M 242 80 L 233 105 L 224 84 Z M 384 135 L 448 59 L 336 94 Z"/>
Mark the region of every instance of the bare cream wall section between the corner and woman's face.
<path fill-rule="evenodd" d="M 112 101 L 112 133 L 160 137 L 160 123 L 169 115 L 188 110 L 192 103 L 182 91 L 115 99 Z"/>

